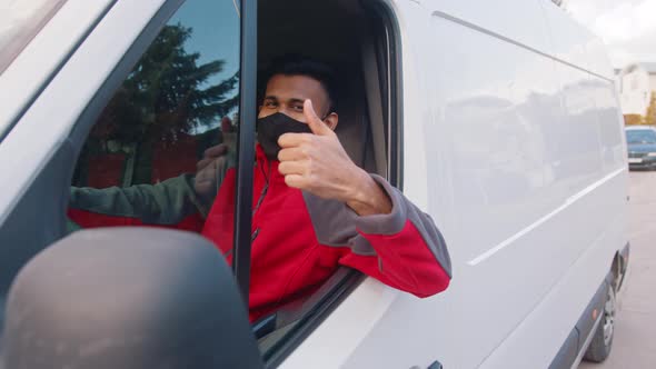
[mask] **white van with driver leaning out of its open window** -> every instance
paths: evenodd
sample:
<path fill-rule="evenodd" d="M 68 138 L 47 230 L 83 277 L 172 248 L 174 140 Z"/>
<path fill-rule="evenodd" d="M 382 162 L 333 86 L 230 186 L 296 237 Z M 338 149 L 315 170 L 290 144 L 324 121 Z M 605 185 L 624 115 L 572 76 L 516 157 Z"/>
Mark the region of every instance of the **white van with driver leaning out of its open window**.
<path fill-rule="evenodd" d="M 586 352 L 596 361 L 608 355 L 628 261 L 627 151 L 603 44 L 551 1 L 32 0 L 0 8 L 4 369 L 95 356 L 107 368 L 183 367 L 177 355 L 201 356 L 201 342 L 213 345 L 217 368 L 569 368 Z M 252 162 L 243 148 L 255 141 L 258 66 L 282 53 L 337 66 L 346 122 L 338 134 L 354 161 L 434 218 L 451 255 L 448 290 L 418 299 L 344 269 L 309 300 L 249 328 L 237 288 L 248 291 L 252 188 L 245 180 L 236 280 L 216 268 L 221 289 L 205 297 L 219 302 L 208 316 L 226 329 L 188 332 L 188 346 L 163 351 L 139 350 L 138 335 L 112 341 L 98 331 L 80 336 L 89 345 L 77 356 L 72 341 L 40 336 L 51 309 L 79 311 L 79 320 L 49 329 L 89 322 L 85 296 L 69 295 L 62 306 L 66 291 L 44 285 L 24 292 L 29 283 L 17 283 L 9 293 L 50 245 L 100 252 L 110 243 L 206 242 L 155 228 L 77 231 L 67 209 L 71 183 L 132 186 L 192 172 L 202 149 L 228 140 L 237 124 L 239 163 Z M 249 167 L 239 168 L 247 176 Z M 155 261 L 138 255 L 150 270 Z M 46 252 L 46 269 L 37 262 L 23 272 L 71 273 L 64 256 Z M 85 285 L 89 270 L 74 272 Z M 209 301 L 193 289 L 162 288 L 180 297 L 160 301 L 162 309 L 202 311 L 195 299 Z M 120 286 L 101 292 L 107 309 L 128 298 Z M 23 299 L 32 305 L 16 305 Z M 21 319 L 36 330 L 13 329 Z"/>

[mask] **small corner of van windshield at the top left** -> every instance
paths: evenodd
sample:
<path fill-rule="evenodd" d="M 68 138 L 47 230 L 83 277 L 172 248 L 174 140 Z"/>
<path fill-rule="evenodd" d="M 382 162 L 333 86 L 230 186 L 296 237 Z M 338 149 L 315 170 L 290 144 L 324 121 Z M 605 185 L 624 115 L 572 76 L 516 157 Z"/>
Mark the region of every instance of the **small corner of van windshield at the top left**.
<path fill-rule="evenodd" d="M 0 0 L 0 74 L 66 0 Z"/>

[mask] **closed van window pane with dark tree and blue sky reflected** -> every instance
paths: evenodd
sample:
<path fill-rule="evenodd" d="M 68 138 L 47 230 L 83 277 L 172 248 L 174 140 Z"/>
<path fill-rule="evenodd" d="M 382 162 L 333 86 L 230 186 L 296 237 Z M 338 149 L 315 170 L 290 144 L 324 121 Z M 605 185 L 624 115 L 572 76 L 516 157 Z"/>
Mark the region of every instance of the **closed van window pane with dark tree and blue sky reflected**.
<path fill-rule="evenodd" d="M 201 230 L 226 171 L 203 156 L 219 143 L 226 160 L 235 150 L 239 50 L 232 1 L 185 2 L 91 129 L 72 180 L 71 230 Z"/>

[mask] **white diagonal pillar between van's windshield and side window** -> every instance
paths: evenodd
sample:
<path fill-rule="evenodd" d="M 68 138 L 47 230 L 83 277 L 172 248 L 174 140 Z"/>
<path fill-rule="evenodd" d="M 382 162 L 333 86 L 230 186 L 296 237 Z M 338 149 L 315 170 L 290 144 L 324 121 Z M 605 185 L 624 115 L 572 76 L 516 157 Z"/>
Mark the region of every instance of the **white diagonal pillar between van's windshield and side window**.
<path fill-rule="evenodd" d="M 12 173 L 0 191 L 0 223 L 162 2 L 117 3 L 0 142 L 0 157 L 13 158 L 0 161 L 0 171 Z"/>

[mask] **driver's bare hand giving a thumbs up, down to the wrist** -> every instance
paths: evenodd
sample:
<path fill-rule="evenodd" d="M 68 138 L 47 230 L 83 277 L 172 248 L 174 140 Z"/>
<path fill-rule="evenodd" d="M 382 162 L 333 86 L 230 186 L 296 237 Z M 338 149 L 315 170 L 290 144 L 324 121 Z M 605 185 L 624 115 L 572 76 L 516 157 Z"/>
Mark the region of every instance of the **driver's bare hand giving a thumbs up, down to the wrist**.
<path fill-rule="evenodd" d="M 278 171 L 287 186 L 342 201 L 360 216 L 389 213 L 387 193 L 350 160 L 309 99 L 304 103 L 304 116 L 312 133 L 285 133 L 278 139 Z"/>

